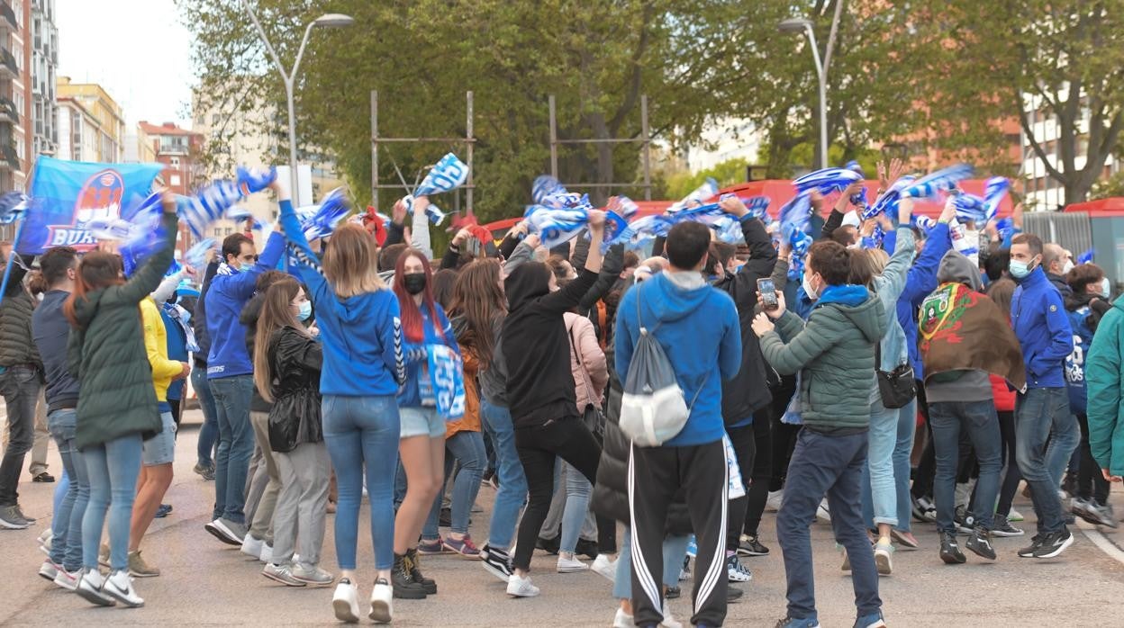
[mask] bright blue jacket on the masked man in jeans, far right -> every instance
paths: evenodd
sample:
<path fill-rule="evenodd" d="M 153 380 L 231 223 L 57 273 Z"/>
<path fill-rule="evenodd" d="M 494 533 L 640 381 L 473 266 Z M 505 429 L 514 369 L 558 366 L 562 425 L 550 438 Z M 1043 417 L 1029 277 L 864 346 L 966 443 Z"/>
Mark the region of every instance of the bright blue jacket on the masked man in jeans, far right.
<path fill-rule="evenodd" d="M 1023 347 L 1027 388 L 1064 388 L 1063 365 L 1073 352 L 1073 330 L 1062 306 L 1061 293 L 1042 266 L 1035 267 L 1015 289 L 1010 322 Z"/>

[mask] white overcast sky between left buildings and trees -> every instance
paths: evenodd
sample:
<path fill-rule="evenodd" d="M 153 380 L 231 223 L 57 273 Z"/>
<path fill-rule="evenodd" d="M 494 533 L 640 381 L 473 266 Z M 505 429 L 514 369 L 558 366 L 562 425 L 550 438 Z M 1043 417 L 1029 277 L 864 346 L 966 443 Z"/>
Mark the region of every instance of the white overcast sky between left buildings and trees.
<path fill-rule="evenodd" d="M 125 120 L 191 124 L 191 36 L 172 0 L 55 0 L 58 75 L 100 83 Z"/>

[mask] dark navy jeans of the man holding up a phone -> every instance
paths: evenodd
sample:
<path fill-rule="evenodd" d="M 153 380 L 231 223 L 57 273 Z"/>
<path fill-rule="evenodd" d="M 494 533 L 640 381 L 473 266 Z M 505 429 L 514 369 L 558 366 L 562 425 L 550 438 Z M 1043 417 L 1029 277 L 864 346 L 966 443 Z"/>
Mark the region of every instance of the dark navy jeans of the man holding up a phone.
<path fill-rule="evenodd" d="M 788 465 L 785 499 L 777 513 L 777 538 L 788 580 L 788 616 L 818 619 L 812 570 L 812 536 L 816 508 L 827 494 L 835 540 L 851 559 L 851 581 L 858 617 L 878 612 L 878 571 L 862 520 L 861 483 L 867 465 L 867 433 L 827 436 L 805 427 Z"/>

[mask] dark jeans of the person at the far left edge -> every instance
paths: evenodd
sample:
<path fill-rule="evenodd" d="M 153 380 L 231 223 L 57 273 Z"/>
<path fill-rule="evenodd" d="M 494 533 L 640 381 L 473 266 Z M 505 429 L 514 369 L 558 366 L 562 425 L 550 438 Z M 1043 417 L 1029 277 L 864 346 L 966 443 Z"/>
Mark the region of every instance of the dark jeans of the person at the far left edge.
<path fill-rule="evenodd" d="M 0 373 L 0 394 L 8 411 L 8 447 L 0 459 L 0 506 L 19 502 L 19 474 L 24 456 L 35 443 L 35 404 L 39 401 L 39 374 L 12 366 Z"/>

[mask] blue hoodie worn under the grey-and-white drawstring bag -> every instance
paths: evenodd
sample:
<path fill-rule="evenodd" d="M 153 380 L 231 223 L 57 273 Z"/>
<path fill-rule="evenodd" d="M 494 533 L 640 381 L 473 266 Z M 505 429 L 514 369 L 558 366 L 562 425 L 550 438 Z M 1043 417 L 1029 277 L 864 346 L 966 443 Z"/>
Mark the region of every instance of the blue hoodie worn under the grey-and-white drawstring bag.
<path fill-rule="evenodd" d="M 644 326 L 654 334 L 674 366 L 676 380 L 688 406 L 695 400 L 682 431 L 664 446 L 688 447 L 720 440 L 726 431 L 722 420 L 722 382 L 734 379 L 742 367 L 742 331 L 734 300 L 706 284 L 680 288 L 667 273 L 631 288 L 617 308 L 616 368 L 622 376 L 627 376 L 640 339 L 637 293 Z"/>

